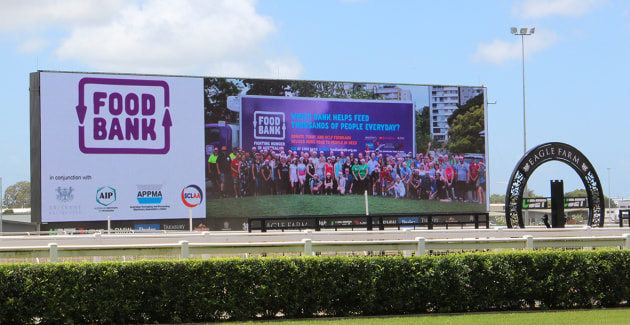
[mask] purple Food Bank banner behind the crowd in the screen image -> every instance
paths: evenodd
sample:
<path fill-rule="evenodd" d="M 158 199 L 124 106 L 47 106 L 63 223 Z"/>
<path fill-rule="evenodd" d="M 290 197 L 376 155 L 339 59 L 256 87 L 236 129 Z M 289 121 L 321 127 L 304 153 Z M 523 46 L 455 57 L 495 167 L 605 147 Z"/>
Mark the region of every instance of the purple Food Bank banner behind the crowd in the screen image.
<path fill-rule="evenodd" d="M 414 151 L 413 103 L 243 96 L 242 146 L 257 149 Z"/>

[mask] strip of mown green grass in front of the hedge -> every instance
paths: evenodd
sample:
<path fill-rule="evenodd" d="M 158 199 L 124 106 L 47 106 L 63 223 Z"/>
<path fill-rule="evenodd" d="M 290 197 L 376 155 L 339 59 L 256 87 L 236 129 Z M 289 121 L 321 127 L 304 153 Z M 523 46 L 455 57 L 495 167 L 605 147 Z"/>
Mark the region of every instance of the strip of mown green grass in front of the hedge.
<path fill-rule="evenodd" d="M 596 309 L 579 311 L 546 311 L 546 312 L 518 312 L 518 313 L 475 313 L 458 315 L 426 315 L 408 317 L 362 317 L 362 318 L 330 318 L 319 320 L 282 321 L 287 325 L 312 324 L 361 324 L 361 325 L 471 325 L 471 324 L 628 324 L 630 309 Z M 230 324 L 260 324 L 257 322 Z"/>

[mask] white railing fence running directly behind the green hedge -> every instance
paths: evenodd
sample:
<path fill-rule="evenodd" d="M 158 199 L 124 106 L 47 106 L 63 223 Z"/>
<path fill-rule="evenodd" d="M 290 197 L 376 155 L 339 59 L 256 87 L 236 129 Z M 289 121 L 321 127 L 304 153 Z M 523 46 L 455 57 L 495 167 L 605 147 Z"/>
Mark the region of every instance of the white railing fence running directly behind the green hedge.
<path fill-rule="evenodd" d="M 48 238 L 49 240 L 51 238 Z M 318 253 L 395 251 L 404 255 L 425 255 L 434 250 L 501 250 L 541 248 L 616 247 L 630 249 L 630 234 L 598 237 L 538 237 L 521 238 L 456 238 L 456 239 L 386 239 L 386 240 L 312 240 L 238 243 L 191 243 L 186 240 L 166 244 L 126 245 L 58 245 L 0 247 L 0 259 L 48 258 L 58 262 L 61 257 L 100 256 L 174 256 L 188 259 L 194 256 L 292 253 L 312 256 Z"/>

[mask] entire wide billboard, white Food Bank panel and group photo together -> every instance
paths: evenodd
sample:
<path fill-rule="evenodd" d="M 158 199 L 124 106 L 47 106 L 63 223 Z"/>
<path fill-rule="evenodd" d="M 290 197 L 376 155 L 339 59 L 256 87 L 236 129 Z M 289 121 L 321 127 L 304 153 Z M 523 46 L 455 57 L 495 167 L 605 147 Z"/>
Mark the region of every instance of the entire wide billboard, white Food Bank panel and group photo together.
<path fill-rule="evenodd" d="M 33 215 L 244 230 L 487 211 L 485 116 L 483 87 L 36 72 Z"/>

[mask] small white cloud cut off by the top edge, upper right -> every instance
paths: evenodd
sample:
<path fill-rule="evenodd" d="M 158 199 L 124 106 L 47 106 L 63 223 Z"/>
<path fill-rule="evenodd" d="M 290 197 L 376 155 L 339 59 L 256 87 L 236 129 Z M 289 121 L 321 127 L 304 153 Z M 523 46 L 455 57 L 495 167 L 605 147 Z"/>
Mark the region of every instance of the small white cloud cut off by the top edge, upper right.
<path fill-rule="evenodd" d="M 522 18 L 543 18 L 548 16 L 572 16 L 585 15 L 606 0 L 525 0 L 515 3 L 512 12 Z"/>

